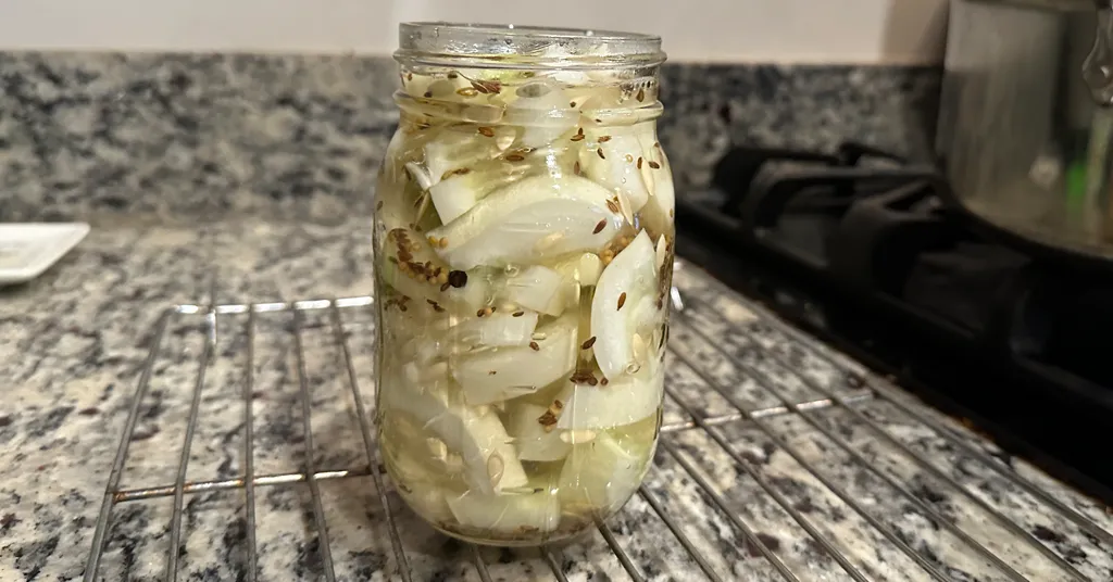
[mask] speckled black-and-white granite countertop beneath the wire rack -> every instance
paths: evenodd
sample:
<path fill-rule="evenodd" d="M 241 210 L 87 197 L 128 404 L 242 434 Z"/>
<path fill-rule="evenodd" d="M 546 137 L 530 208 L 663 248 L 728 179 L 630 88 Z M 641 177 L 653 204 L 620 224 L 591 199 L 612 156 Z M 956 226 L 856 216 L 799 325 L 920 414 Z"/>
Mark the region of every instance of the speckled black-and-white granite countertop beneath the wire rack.
<path fill-rule="evenodd" d="M 9 383 L 0 412 L 0 463 L 4 467 L 0 474 L 0 579 L 76 580 L 82 575 L 108 468 L 151 328 L 166 306 L 203 304 L 214 288 L 217 302 L 223 303 L 363 295 L 371 287 L 368 236 L 368 225 L 362 221 L 313 226 L 245 218 L 175 227 L 106 220 L 56 268 L 26 286 L 2 292 L 0 373 Z M 689 300 L 672 332 L 672 393 L 697 414 L 716 418 L 716 430 L 737 456 L 867 578 L 927 580 L 924 570 L 768 434 L 752 423 L 729 421 L 735 408 L 707 384 L 725 387 L 749 410 L 776 412 L 777 397 L 747 373 L 767 381 L 792 402 L 806 402 L 820 395 L 801 378 L 837 394 L 855 395 L 861 393 L 861 371 L 853 363 L 844 363 L 850 373 L 833 366 L 818 356 L 819 348 L 789 339 L 743 298 L 719 288 L 691 266 L 678 270 L 677 284 Z M 302 322 L 303 345 L 313 395 L 315 463 L 318 470 L 339 470 L 365 464 L 366 457 L 326 315 L 307 313 Z M 257 319 L 253 401 L 257 474 L 298 471 L 304 462 L 287 316 L 260 314 Z M 245 319 L 229 315 L 221 320 L 214 361 L 206 371 L 187 474 L 190 480 L 230 479 L 243 471 Z M 345 308 L 343 320 L 370 403 L 371 313 Z M 198 323 L 176 316 L 167 331 L 150 393 L 140 408 L 121 483 L 125 489 L 173 483 L 203 339 Z M 771 354 L 779 354 L 791 369 L 778 365 Z M 1113 520 L 1093 502 L 1024 462 L 1008 458 L 958 423 L 920 404 L 910 405 L 939 418 L 976 448 L 1007 462 L 1008 471 L 1113 531 Z M 858 407 L 1081 573 L 1095 581 L 1113 578 L 1113 548 L 1081 532 L 892 403 L 871 399 Z M 847 411 L 831 407 L 809 414 L 850 443 L 871 466 L 904 483 L 1022 574 L 1041 581 L 1070 580 L 996 525 L 969 496 L 880 441 Z M 670 401 L 667 426 L 681 428 L 688 421 L 686 412 Z M 799 416 L 775 414 L 766 425 L 940 572 L 956 580 L 1006 579 Z M 706 433 L 672 431 L 664 438 L 801 580 L 849 580 L 778 501 Z M 646 489 L 681 524 L 722 580 L 776 579 L 757 545 L 742 537 L 715 509 L 708 493 L 663 450 Z M 371 479 L 323 481 L 321 490 L 337 579 L 396 580 L 383 510 Z M 260 486 L 256 495 L 262 579 L 321 579 L 308 489 Z M 414 580 L 479 580 L 466 546 L 433 533 L 402 509 L 393 493 L 391 499 Z M 238 490 L 186 496 L 179 580 L 243 579 L 244 504 Z M 171 506 L 169 497 L 158 497 L 116 507 L 116 525 L 100 568 L 102 580 L 160 580 Z M 610 526 L 648 579 L 705 580 L 644 499 L 634 497 Z M 528 551 L 484 550 L 483 555 L 495 580 L 552 579 L 545 563 Z M 570 580 L 628 579 L 599 533 L 561 550 L 558 562 Z"/>

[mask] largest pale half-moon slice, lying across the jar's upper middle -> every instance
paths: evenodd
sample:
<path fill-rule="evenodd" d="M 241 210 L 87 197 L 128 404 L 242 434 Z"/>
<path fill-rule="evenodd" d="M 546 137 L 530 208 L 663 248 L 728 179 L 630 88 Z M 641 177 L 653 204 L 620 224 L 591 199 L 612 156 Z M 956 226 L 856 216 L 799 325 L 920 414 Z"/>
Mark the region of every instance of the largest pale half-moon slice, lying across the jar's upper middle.
<path fill-rule="evenodd" d="M 430 235 L 445 241 L 437 253 L 464 270 L 598 251 L 622 226 L 607 206 L 611 196 L 580 176 L 533 176 L 491 193 Z"/>

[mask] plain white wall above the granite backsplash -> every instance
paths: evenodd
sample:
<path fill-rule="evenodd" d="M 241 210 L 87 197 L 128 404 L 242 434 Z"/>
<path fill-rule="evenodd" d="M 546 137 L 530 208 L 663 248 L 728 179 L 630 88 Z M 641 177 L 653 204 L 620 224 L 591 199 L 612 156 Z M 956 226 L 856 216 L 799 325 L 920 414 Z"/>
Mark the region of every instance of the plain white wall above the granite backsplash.
<path fill-rule="evenodd" d="M 402 20 L 656 32 L 673 60 L 938 62 L 947 0 L 0 0 L 0 49 L 388 53 Z"/>

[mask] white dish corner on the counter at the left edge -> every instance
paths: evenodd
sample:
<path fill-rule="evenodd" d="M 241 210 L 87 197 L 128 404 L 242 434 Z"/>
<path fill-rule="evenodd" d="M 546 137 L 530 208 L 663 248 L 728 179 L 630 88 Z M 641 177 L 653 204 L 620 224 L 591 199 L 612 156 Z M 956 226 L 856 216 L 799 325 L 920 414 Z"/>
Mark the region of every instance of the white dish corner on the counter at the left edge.
<path fill-rule="evenodd" d="M 0 225 L 0 285 L 38 277 L 87 234 L 85 223 Z"/>

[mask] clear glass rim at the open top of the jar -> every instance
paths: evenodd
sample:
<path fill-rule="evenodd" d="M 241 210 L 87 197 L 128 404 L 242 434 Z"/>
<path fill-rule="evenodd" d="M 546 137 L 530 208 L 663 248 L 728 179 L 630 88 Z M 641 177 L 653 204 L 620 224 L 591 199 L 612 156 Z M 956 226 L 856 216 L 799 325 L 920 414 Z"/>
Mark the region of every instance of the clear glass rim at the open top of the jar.
<path fill-rule="evenodd" d="M 661 37 L 642 32 L 487 22 L 398 24 L 403 65 L 494 69 L 613 69 L 660 65 Z"/>

